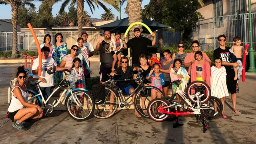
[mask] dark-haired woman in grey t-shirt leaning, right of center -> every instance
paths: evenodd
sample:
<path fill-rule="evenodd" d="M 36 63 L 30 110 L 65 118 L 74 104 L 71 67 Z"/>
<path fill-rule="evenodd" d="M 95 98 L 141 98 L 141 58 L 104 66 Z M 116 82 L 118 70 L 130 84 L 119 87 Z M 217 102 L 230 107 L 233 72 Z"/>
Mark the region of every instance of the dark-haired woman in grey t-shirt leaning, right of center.
<path fill-rule="evenodd" d="M 163 85 L 163 93 L 168 97 L 168 89 L 170 85 L 170 70 L 173 67 L 173 59 L 171 58 L 171 52 L 169 49 L 164 50 L 164 59 L 161 60 L 162 69 L 160 72 L 164 74 L 165 84 Z"/>

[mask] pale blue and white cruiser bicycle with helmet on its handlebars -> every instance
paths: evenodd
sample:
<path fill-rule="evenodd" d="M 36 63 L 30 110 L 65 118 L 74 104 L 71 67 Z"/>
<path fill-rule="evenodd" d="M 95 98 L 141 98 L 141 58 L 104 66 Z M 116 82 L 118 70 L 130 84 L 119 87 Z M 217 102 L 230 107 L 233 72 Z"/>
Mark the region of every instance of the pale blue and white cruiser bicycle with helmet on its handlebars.
<path fill-rule="evenodd" d="M 70 117 L 77 121 L 87 120 L 88 118 L 90 118 L 90 116 L 92 116 L 92 110 L 94 110 L 94 99 L 86 89 L 73 89 L 74 83 L 77 81 L 78 78 L 77 73 L 70 72 L 67 74 L 65 71 L 59 71 L 65 73 L 64 79 L 58 83 L 58 85 L 54 88 L 55 90 L 46 100 L 44 99 L 42 91 L 40 90 L 39 83 L 41 81 L 34 81 L 31 83 L 31 85 L 36 88 L 39 94 L 31 89 L 28 89 L 29 97 L 31 97 L 30 99 L 28 99 L 28 103 L 33 103 L 42 107 L 44 110 L 46 110 L 46 113 L 44 114 L 44 116 L 46 116 L 48 112 L 51 113 L 54 110 L 54 107 L 56 107 L 60 103 L 60 100 L 62 99 L 64 94 L 69 91 L 68 94 L 65 96 L 64 103 L 68 114 L 70 115 Z M 56 72 L 57 71 L 53 71 L 49 74 L 53 74 Z M 46 105 L 52 95 L 59 89 L 64 90 L 62 95 L 60 96 L 60 99 L 55 99 L 52 104 Z M 88 106 L 88 104 L 90 104 L 90 108 L 86 107 Z M 72 108 L 74 109 L 74 111 L 72 110 Z"/>

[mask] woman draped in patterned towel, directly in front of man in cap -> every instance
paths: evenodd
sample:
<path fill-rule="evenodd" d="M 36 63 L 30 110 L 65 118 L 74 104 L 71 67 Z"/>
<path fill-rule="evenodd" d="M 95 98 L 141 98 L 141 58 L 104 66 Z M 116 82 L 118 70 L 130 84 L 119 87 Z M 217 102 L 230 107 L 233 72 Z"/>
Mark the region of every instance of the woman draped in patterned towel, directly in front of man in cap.
<path fill-rule="evenodd" d="M 84 68 L 84 76 L 90 75 L 90 61 L 89 61 L 89 54 L 87 48 L 83 45 L 84 39 L 82 37 L 79 37 L 77 39 L 78 43 L 78 53 L 76 55 L 81 54 L 81 62 L 83 63 Z"/>

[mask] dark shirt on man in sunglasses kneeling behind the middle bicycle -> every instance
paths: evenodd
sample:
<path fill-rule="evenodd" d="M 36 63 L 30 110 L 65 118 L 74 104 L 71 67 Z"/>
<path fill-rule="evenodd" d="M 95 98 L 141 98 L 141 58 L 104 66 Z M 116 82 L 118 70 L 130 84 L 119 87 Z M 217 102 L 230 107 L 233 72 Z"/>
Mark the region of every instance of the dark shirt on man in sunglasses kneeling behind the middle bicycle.
<path fill-rule="evenodd" d="M 118 67 L 116 68 L 116 72 L 118 73 L 118 75 L 115 76 L 116 79 L 133 79 L 132 76 L 132 71 L 133 71 L 134 67 L 130 67 L 129 65 L 127 66 L 127 69 L 124 73 L 124 71 L 122 70 L 122 67 Z M 129 85 L 132 85 L 132 81 L 118 81 L 117 82 L 117 86 L 123 90 L 125 87 L 128 87 Z"/>

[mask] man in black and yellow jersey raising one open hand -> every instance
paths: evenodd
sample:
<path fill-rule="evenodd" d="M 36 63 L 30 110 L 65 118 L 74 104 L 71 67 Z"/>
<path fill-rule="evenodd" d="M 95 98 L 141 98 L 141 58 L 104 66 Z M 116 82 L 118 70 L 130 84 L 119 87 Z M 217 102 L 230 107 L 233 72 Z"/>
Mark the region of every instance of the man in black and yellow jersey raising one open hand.
<path fill-rule="evenodd" d="M 111 73 L 113 57 L 110 52 L 110 31 L 104 32 L 105 40 L 102 41 L 101 36 L 98 36 L 98 43 L 95 47 L 97 51 L 100 51 L 100 83 L 104 83 L 108 80 L 107 73 Z"/>

